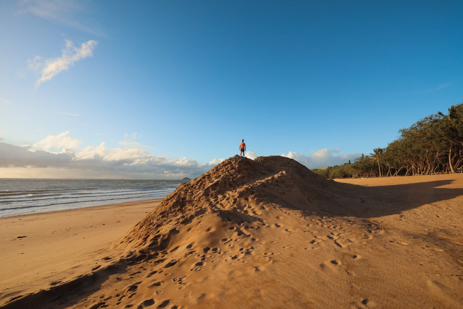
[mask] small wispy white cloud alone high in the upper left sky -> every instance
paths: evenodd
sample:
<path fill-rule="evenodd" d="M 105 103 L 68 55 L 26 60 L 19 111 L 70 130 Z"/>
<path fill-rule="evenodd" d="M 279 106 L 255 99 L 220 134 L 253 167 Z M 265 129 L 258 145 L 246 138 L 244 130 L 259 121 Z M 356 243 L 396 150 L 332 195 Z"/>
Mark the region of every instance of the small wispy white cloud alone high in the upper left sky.
<path fill-rule="evenodd" d="M 51 80 L 53 76 L 56 76 L 61 71 L 69 69 L 69 66 L 73 65 L 76 61 L 92 57 L 96 44 L 98 44 L 97 41 L 90 40 L 82 43 L 81 48 L 77 48 L 71 41 L 66 40 L 61 57 L 43 60 L 42 57 L 36 56 L 33 60 L 27 60 L 29 69 L 34 71 L 41 70 L 42 76 L 36 82 L 37 86 L 41 82 Z"/>

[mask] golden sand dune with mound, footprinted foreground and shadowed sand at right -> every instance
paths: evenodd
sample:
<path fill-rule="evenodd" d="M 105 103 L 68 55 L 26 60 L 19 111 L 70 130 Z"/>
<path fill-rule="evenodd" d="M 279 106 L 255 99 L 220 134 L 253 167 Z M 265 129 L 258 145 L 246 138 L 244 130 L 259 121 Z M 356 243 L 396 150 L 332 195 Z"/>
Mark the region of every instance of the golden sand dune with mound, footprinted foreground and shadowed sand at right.
<path fill-rule="evenodd" d="M 349 181 L 232 157 L 0 308 L 463 308 L 461 175 Z"/>

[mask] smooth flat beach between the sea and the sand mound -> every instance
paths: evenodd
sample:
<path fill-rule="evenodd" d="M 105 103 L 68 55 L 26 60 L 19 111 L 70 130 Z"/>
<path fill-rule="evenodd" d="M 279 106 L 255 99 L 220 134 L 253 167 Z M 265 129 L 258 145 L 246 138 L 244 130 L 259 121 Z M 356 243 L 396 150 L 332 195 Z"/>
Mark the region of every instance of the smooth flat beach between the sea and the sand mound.
<path fill-rule="evenodd" d="M 0 297 L 4 299 L 11 292 L 44 289 L 63 276 L 78 274 L 81 261 L 88 263 L 160 201 L 1 218 Z"/>

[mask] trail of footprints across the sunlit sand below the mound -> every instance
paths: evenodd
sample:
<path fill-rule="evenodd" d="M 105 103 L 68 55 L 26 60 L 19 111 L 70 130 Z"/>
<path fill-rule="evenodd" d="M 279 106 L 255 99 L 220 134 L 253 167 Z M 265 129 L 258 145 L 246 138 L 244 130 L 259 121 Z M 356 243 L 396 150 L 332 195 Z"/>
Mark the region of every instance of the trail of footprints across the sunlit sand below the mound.
<path fill-rule="evenodd" d="M 364 244 L 364 240 L 357 239 L 354 235 L 349 234 L 345 231 L 342 224 L 339 221 L 326 217 L 326 216 L 316 216 L 316 215 L 305 215 L 301 212 L 292 213 L 285 208 L 274 207 L 275 209 L 281 210 L 284 215 L 296 215 L 301 219 L 309 221 L 306 227 L 295 228 L 295 227 L 285 227 L 284 215 L 275 216 L 274 222 L 268 222 L 264 220 L 261 215 L 268 210 L 269 205 L 259 206 L 259 207 L 250 207 L 249 205 L 244 205 L 242 209 L 238 209 L 238 212 L 244 214 L 252 214 L 256 216 L 258 220 L 256 222 L 244 221 L 238 222 L 238 224 L 229 227 L 229 230 L 232 232 L 232 235 L 225 237 L 220 240 L 220 246 L 217 247 L 204 247 L 201 248 L 198 244 L 190 243 L 188 246 L 184 246 L 181 250 L 178 250 L 175 253 L 177 248 L 174 248 L 170 252 L 163 251 L 159 256 L 159 259 L 142 262 L 135 267 L 139 267 L 141 271 L 133 272 L 130 271 L 129 278 L 119 278 L 116 279 L 120 281 L 121 284 L 125 280 L 135 281 L 134 283 L 125 285 L 125 288 L 122 288 L 122 292 L 116 293 L 113 296 L 100 296 L 103 298 L 102 301 L 94 301 L 93 306 L 88 306 L 90 309 L 114 307 L 114 308 L 170 308 L 170 309 L 180 309 L 181 306 L 176 305 L 171 299 L 164 299 L 163 289 L 166 286 L 169 286 L 169 289 L 172 288 L 172 285 L 176 285 L 178 290 L 184 290 L 189 286 L 188 277 L 192 276 L 194 273 L 199 273 L 204 267 L 216 267 L 219 263 L 227 263 L 228 265 L 245 265 L 251 263 L 250 267 L 255 271 L 264 271 L 266 265 L 277 261 L 277 257 L 280 256 L 281 252 L 263 252 L 265 251 L 266 242 L 259 242 L 257 237 L 253 237 L 252 231 L 259 230 L 261 228 L 271 228 L 279 230 L 282 232 L 282 237 L 278 237 L 278 241 L 284 241 L 287 237 L 293 237 L 296 233 L 310 233 L 313 237 L 310 241 L 307 242 L 308 246 L 305 247 L 305 250 L 319 250 L 323 246 L 335 245 L 340 249 L 347 249 L 349 251 L 349 246 L 354 243 Z M 269 216 L 265 216 L 269 219 Z M 232 221 L 228 219 L 228 221 Z M 200 221 L 198 222 L 200 225 Z M 353 224 L 352 224 L 353 226 Z M 331 230 L 331 232 L 326 233 L 326 230 Z M 208 227 L 206 232 L 213 230 L 212 227 Z M 320 232 L 325 231 L 325 233 Z M 373 232 L 373 229 L 369 232 Z M 366 233 L 364 235 L 365 239 L 370 239 L 372 233 Z M 304 236 L 304 238 L 307 238 Z M 289 240 L 289 238 L 288 238 Z M 275 240 L 269 241 L 269 243 L 275 243 Z M 288 243 L 285 246 L 282 246 L 282 250 L 291 250 L 297 249 L 294 244 Z M 259 252 L 259 253 L 257 253 Z M 360 255 L 350 254 L 350 259 L 359 259 Z M 344 255 L 344 258 L 348 258 Z M 189 264 L 188 264 L 189 263 Z M 333 259 L 327 261 L 326 264 L 320 264 L 320 268 L 325 268 L 328 265 L 333 267 L 338 267 L 343 265 L 341 259 Z M 171 276 L 169 269 L 173 266 L 179 265 L 189 265 L 189 272 L 181 277 Z M 175 268 L 175 267 L 173 267 Z M 132 269 L 133 270 L 133 269 Z M 349 276 L 356 276 L 354 271 L 344 270 L 345 273 Z M 183 273 L 182 273 L 183 274 Z M 138 278 L 138 280 L 137 280 Z M 141 280 L 141 281 L 140 281 Z M 137 295 L 139 286 L 144 285 L 148 291 L 150 291 L 150 297 L 146 299 L 139 300 L 144 298 L 145 295 Z M 146 289 L 144 290 L 146 293 Z M 143 294 L 143 293 L 142 293 Z M 185 294 L 185 297 L 196 297 L 190 295 L 190 293 Z M 192 303 L 195 301 L 198 302 L 200 299 L 204 298 L 206 294 L 202 294 L 196 299 L 192 299 Z M 135 299 L 138 302 L 135 302 Z M 133 300 L 133 301 L 132 301 Z M 122 307 L 121 307 L 122 306 Z"/>

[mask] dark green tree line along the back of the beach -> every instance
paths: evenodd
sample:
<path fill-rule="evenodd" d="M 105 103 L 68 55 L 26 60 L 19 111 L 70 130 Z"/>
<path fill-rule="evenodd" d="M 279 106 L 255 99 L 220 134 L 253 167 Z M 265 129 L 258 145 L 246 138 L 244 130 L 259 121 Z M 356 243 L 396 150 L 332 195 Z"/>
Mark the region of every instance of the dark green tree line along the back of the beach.
<path fill-rule="evenodd" d="M 463 169 L 463 102 L 447 114 L 429 115 L 399 130 L 386 148 L 375 148 L 353 163 L 313 169 L 326 179 L 457 173 Z"/>

